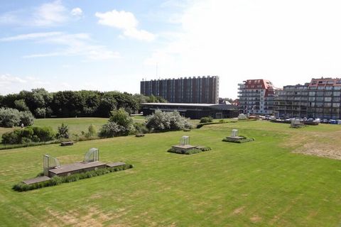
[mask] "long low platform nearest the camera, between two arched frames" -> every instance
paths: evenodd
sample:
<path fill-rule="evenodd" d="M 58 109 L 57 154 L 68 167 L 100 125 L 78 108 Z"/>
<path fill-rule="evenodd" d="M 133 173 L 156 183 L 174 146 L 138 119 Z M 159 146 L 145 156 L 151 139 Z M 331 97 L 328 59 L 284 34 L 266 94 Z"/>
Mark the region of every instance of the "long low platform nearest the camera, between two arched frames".
<path fill-rule="evenodd" d="M 97 168 L 104 168 L 104 162 L 76 162 L 69 165 L 62 165 L 61 168 L 48 170 L 49 177 L 53 176 L 67 176 L 77 172 L 85 172 L 96 170 Z"/>

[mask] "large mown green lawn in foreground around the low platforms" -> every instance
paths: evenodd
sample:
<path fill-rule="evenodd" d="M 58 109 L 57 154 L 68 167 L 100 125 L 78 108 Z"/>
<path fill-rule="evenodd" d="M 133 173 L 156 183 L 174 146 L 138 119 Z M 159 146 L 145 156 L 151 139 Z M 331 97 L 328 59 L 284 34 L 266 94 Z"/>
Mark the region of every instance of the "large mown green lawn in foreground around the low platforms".
<path fill-rule="evenodd" d="M 232 128 L 256 141 L 222 142 Z M 0 226 L 340 226 L 341 161 L 301 154 L 311 147 L 340 152 L 340 132 L 332 125 L 291 129 L 249 121 L 3 150 Z M 212 150 L 167 153 L 182 135 Z M 92 147 L 103 162 L 123 161 L 134 169 L 30 192 L 11 190 L 42 171 L 43 154 L 63 165 L 82 160 Z"/>

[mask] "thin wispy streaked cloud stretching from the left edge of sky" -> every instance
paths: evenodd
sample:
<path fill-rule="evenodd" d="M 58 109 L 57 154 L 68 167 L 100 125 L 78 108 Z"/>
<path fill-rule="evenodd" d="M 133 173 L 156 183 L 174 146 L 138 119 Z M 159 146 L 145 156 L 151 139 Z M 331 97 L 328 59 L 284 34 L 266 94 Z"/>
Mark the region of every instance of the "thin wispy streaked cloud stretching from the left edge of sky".
<path fill-rule="evenodd" d="M 119 52 L 108 50 L 104 45 L 92 44 L 93 41 L 87 33 L 68 34 L 62 32 L 50 33 L 28 33 L 22 35 L 0 38 L 0 41 L 15 40 L 35 40 L 38 43 L 48 43 L 61 45 L 64 48 L 58 51 L 35 53 L 25 55 L 25 58 L 31 57 L 53 57 L 53 56 L 82 56 L 87 60 L 107 60 L 120 57 Z"/>

